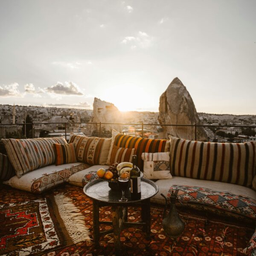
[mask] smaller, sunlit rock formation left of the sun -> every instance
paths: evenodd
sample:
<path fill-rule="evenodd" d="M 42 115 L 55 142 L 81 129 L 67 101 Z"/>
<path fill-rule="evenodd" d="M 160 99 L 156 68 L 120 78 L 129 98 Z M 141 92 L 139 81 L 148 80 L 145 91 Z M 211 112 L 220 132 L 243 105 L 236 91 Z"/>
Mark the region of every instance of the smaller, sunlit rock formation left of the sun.
<path fill-rule="evenodd" d="M 90 122 L 102 122 L 102 123 L 120 123 L 122 122 L 122 113 L 116 108 L 115 105 L 109 102 L 105 102 L 98 98 L 94 98 L 93 102 L 93 113 Z M 98 130 L 95 125 L 91 125 L 92 127 L 89 130 Z M 99 126 L 99 125 L 98 125 Z M 101 125 L 102 128 L 105 128 L 106 131 L 112 131 L 115 129 L 116 131 L 122 132 L 121 125 Z"/>

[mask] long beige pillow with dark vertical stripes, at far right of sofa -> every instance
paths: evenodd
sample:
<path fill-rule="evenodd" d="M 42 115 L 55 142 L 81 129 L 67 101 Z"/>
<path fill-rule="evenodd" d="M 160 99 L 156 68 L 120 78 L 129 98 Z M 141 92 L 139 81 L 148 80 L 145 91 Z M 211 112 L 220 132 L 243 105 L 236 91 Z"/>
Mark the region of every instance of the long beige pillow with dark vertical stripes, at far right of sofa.
<path fill-rule="evenodd" d="M 171 138 L 171 174 L 252 186 L 256 142 L 210 143 Z"/>

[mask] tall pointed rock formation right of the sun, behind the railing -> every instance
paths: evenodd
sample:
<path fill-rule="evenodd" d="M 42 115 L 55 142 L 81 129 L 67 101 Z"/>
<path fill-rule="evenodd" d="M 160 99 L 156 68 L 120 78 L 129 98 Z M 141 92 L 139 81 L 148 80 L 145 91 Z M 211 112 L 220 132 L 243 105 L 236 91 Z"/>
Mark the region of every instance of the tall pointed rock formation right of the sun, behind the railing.
<path fill-rule="evenodd" d="M 194 102 L 177 77 L 172 80 L 160 96 L 158 121 L 161 124 L 194 125 L 200 124 Z M 195 128 L 189 126 L 162 126 L 166 135 L 187 140 L 195 140 Z M 197 140 L 206 140 L 204 128 L 197 127 Z"/>

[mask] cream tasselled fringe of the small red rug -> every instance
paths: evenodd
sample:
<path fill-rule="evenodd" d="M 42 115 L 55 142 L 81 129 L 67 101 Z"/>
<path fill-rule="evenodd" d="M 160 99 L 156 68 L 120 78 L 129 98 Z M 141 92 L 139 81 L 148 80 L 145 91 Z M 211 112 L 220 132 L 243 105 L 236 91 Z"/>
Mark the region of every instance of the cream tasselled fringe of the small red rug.
<path fill-rule="evenodd" d="M 59 214 L 72 241 L 74 243 L 79 243 L 85 240 L 90 240 L 90 232 L 85 226 L 84 215 L 73 204 L 72 199 L 63 194 L 55 195 L 54 199 L 58 206 Z"/>

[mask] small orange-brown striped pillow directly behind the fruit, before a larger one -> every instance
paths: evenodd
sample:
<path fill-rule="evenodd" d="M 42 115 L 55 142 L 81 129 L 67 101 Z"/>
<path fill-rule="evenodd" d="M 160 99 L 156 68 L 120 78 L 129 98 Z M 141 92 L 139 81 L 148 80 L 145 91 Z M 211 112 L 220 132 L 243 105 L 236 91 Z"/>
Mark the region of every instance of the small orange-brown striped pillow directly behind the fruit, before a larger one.
<path fill-rule="evenodd" d="M 116 145 L 113 145 L 111 157 L 110 157 L 110 165 L 113 163 L 122 163 L 122 162 L 130 162 L 132 159 L 132 155 L 136 154 L 135 148 L 119 148 Z"/>

